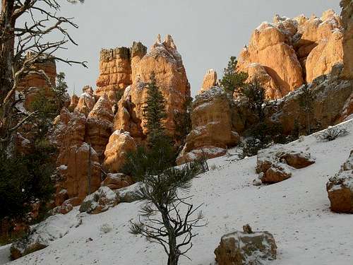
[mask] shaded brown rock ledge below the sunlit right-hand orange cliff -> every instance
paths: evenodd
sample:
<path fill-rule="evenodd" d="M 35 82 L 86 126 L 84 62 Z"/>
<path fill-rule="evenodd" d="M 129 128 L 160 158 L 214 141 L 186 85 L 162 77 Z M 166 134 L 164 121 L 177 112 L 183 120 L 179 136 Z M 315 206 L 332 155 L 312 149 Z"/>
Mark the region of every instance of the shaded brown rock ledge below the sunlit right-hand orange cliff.
<path fill-rule="evenodd" d="M 291 134 L 296 126 L 307 124 L 307 116 L 301 106 L 301 98 L 306 97 L 305 88 L 311 93 L 312 102 L 309 121 L 311 126 L 316 126 L 320 122 L 321 128 L 337 124 L 342 120 L 342 112 L 347 106 L 345 117 L 348 117 L 349 99 L 353 91 L 353 81 L 341 80 L 339 78 L 342 71 L 342 64 L 333 67 L 333 71 L 327 76 L 316 78 L 313 83 L 302 86 L 277 103 L 275 113 L 270 113 L 270 122 L 277 122 L 282 126 L 284 134 Z"/>

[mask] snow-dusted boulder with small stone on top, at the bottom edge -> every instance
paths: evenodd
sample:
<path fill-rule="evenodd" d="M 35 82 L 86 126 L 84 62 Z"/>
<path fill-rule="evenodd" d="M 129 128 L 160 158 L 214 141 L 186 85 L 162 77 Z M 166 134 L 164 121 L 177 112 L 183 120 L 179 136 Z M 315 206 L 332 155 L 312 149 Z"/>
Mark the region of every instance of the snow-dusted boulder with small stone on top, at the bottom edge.
<path fill-rule="evenodd" d="M 249 225 L 243 230 L 222 236 L 215 249 L 218 265 L 263 264 L 276 259 L 277 246 L 270 232 L 252 232 Z"/>

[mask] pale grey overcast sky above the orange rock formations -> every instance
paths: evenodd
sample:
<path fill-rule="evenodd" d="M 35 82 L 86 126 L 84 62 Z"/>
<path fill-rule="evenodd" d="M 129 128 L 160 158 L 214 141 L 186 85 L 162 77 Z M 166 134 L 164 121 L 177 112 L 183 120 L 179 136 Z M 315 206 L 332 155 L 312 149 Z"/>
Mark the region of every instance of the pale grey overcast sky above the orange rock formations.
<path fill-rule="evenodd" d="M 65 1 L 61 1 L 65 2 Z M 66 73 L 69 92 L 90 85 L 95 89 L 100 49 L 130 47 L 135 41 L 150 48 L 158 34 L 170 34 L 183 58 L 196 95 L 205 72 L 218 76 L 230 56 L 249 42 L 254 28 L 275 14 L 294 17 L 301 13 L 321 16 L 339 0 L 85 0 L 85 4 L 63 4 L 62 13 L 75 17 L 80 28 L 71 30 L 78 47 L 70 46 L 64 57 L 88 61 L 88 69 L 57 65 Z"/>

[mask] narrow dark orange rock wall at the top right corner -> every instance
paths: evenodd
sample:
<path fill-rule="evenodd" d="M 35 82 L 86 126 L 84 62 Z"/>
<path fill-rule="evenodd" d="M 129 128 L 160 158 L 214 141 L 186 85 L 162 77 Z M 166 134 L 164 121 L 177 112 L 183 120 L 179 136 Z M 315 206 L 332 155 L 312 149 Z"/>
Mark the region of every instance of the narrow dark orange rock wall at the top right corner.
<path fill-rule="evenodd" d="M 342 73 L 343 78 L 353 79 L 353 1 L 342 0 L 342 24 L 345 28 L 345 36 L 343 37 L 343 63 L 345 68 Z"/>

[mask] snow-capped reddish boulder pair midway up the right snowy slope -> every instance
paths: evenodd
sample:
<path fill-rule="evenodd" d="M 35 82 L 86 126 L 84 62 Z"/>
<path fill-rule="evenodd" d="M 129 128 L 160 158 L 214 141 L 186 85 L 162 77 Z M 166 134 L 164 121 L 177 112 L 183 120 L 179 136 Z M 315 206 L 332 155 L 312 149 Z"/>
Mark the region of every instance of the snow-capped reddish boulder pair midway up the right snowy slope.
<path fill-rule="evenodd" d="M 259 151 L 256 172 L 262 173 L 261 182 L 277 183 L 292 177 L 295 168 L 307 167 L 315 163 L 310 153 L 285 149 L 282 145 Z"/>

